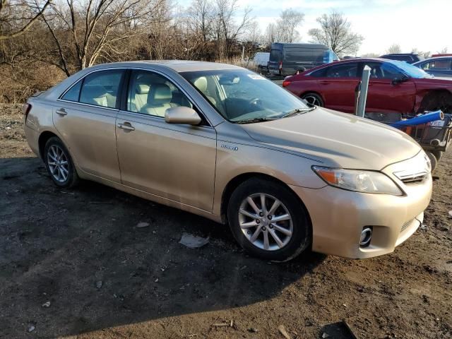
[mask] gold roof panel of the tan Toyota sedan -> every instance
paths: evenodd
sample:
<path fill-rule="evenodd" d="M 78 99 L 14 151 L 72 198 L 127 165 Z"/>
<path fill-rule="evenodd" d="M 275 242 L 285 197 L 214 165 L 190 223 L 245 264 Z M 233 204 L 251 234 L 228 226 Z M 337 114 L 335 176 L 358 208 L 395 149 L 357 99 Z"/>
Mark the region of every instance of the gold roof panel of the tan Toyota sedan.
<path fill-rule="evenodd" d="M 100 64 L 93 68 L 109 69 L 117 67 L 143 67 L 145 65 L 159 66 L 162 68 L 172 69 L 177 73 L 189 71 L 213 71 L 218 69 L 242 69 L 242 67 L 231 64 L 221 64 L 218 62 L 208 61 L 190 61 L 190 60 L 142 60 L 142 61 L 123 61 L 112 62 L 109 64 Z"/>

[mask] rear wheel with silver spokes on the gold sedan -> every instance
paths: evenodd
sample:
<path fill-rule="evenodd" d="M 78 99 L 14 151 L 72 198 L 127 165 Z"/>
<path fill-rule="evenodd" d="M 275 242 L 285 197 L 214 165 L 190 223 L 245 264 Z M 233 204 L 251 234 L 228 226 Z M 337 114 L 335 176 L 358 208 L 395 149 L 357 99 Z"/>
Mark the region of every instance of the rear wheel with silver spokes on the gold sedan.
<path fill-rule="evenodd" d="M 69 150 L 56 136 L 49 138 L 44 147 L 44 163 L 52 181 L 63 189 L 78 184 L 78 174 Z"/>

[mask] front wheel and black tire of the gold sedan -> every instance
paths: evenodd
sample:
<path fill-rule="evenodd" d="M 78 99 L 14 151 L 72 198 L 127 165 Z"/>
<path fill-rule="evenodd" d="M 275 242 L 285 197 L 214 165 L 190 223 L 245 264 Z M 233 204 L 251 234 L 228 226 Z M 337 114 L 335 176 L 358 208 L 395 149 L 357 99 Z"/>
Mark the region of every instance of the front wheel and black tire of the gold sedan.
<path fill-rule="evenodd" d="M 232 193 L 227 217 L 234 238 L 250 254 L 288 261 L 311 244 L 304 206 L 282 184 L 249 179 Z"/>

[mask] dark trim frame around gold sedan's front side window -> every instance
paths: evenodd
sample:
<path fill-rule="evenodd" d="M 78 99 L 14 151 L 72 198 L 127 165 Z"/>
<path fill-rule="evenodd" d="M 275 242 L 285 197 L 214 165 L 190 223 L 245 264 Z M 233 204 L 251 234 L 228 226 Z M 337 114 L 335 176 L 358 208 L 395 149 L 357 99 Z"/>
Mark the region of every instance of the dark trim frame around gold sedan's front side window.
<path fill-rule="evenodd" d="M 127 109 L 129 86 L 130 86 L 130 81 L 131 81 L 131 74 L 133 73 L 133 71 L 143 71 L 143 72 L 155 73 L 155 74 L 167 79 L 167 81 L 172 83 L 172 85 L 174 85 L 174 87 L 176 87 L 177 90 L 179 90 L 183 95 L 186 96 L 187 100 L 189 100 L 191 105 L 193 105 L 196 113 L 198 113 L 201 116 L 201 123 L 204 123 L 204 124 L 200 124 L 198 126 L 213 128 L 212 124 L 207 119 L 206 114 L 204 114 L 203 111 L 198 107 L 198 105 L 196 105 L 195 100 L 193 100 L 193 98 L 188 93 L 186 93 L 186 91 L 176 81 L 174 81 L 174 79 L 172 79 L 167 74 L 157 71 L 155 69 L 145 69 L 145 68 L 140 68 L 140 67 L 133 67 L 133 68 L 129 68 L 126 70 L 126 75 L 124 76 L 124 81 L 121 86 L 121 102 L 119 105 L 119 110 L 121 110 L 121 112 L 137 115 L 138 117 L 152 117 L 152 118 L 156 118 L 159 120 L 165 120 L 164 117 L 159 117 L 157 115 L 152 115 L 152 114 L 144 114 L 144 113 L 140 113 L 140 112 L 133 112 L 133 111 L 129 111 L 129 109 Z"/>

